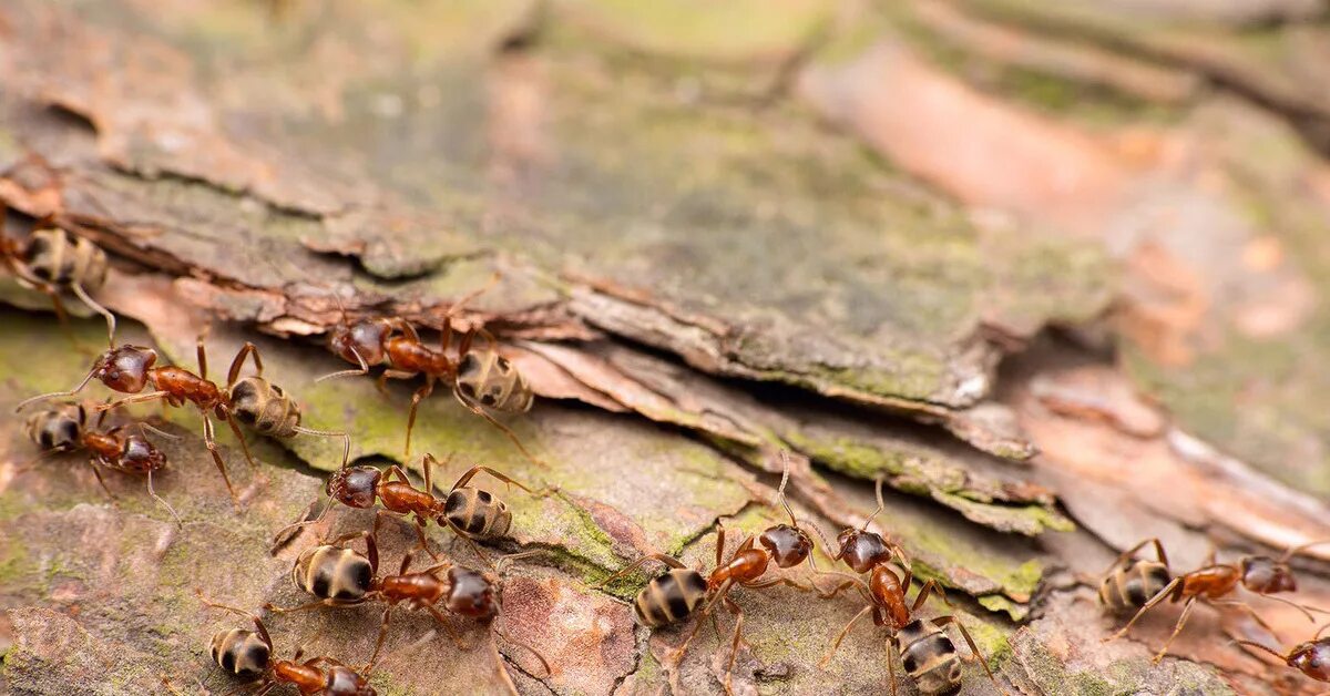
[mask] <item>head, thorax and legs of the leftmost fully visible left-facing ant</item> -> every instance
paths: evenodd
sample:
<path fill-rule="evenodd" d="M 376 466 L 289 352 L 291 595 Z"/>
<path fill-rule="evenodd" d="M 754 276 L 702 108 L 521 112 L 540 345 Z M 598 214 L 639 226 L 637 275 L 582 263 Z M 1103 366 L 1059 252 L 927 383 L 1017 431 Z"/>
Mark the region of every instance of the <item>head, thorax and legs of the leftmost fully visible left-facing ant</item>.
<path fill-rule="evenodd" d="M 184 406 L 185 402 L 190 402 L 198 407 L 203 417 L 203 443 L 207 446 L 207 451 L 213 455 L 213 462 L 217 464 L 217 470 L 221 471 L 222 480 L 226 482 L 226 491 L 231 495 L 231 503 L 238 510 L 241 507 L 239 498 L 235 496 L 235 490 L 231 487 L 231 479 L 226 474 L 226 463 L 222 462 L 222 455 L 217 448 L 213 421 L 209 418 L 209 413 L 222 421 L 226 421 L 231 433 L 235 434 L 235 439 L 239 440 L 241 450 L 245 452 L 245 459 L 249 462 L 250 468 L 257 472 L 258 466 L 254 463 L 254 456 L 249 451 L 245 435 L 241 433 L 241 429 L 235 422 L 235 402 L 231 391 L 233 387 L 237 386 L 241 367 L 245 365 L 245 358 L 251 355 L 254 358 L 254 363 L 258 366 L 259 374 L 262 374 L 263 365 L 259 362 L 258 347 L 246 341 L 245 346 L 235 354 L 235 359 L 231 361 L 226 387 L 222 389 L 207 381 L 207 349 L 203 347 L 202 335 L 198 338 L 200 374 L 197 375 L 184 367 L 154 367 L 157 363 L 156 350 L 145 346 L 124 345 L 113 347 L 97 357 L 92 370 L 88 371 L 88 375 L 84 377 L 82 382 L 80 382 L 74 389 L 69 391 L 56 391 L 52 394 L 32 397 L 31 399 L 20 403 L 15 411 L 21 411 L 29 403 L 39 401 L 57 397 L 72 397 L 82 390 L 82 387 L 86 386 L 93 378 L 98 379 L 114 391 L 132 394 L 132 397 L 125 397 L 117 402 L 101 405 L 98 406 L 98 410 L 109 410 L 130 403 L 142 403 L 157 399 L 164 399 L 166 403 L 177 407 Z M 142 391 L 149 385 L 154 391 L 144 394 Z"/>

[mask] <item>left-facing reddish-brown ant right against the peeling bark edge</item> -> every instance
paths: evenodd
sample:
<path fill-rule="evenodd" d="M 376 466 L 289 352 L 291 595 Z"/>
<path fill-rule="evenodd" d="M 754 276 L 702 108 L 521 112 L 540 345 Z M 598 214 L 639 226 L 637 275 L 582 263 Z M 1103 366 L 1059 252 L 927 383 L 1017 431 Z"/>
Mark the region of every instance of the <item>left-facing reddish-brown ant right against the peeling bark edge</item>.
<path fill-rule="evenodd" d="M 489 286 L 497 279 L 496 274 Z M 388 379 L 411 379 L 416 375 L 424 375 L 424 385 L 420 385 L 411 394 L 411 410 L 407 415 L 406 459 L 411 459 L 411 431 L 415 429 L 416 410 L 422 401 L 434 394 L 435 382 L 443 379 L 452 385 L 452 395 L 459 403 L 501 430 L 532 463 L 547 466 L 543 460 L 532 456 L 508 426 L 485 411 L 485 409 L 493 409 L 503 413 L 527 413 L 535 401 L 535 394 L 531 385 L 527 383 L 525 375 L 517 371 L 508 358 L 499 354 L 497 341 L 493 335 L 484 329 L 468 330 L 458 345 L 456 359 L 448 357 L 452 341 L 452 315 L 467 302 L 488 290 L 489 286 L 463 297 L 448 309 L 443 317 L 438 350 L 426 346 L 415 327 L 402 317 L 367 318 L 351 323 L 339 297 L 342 319 L 329 334 L 329 347 L 342 359 L 359 365 L 359 369 L 326 374 L 315 382 L 367 375 L 371 365 L 386 367 L 378 379 L 379 391 L 387 390 Z M 487 347 L 472 350 L 472 338 L 476 334 L 488 342 Z"/>

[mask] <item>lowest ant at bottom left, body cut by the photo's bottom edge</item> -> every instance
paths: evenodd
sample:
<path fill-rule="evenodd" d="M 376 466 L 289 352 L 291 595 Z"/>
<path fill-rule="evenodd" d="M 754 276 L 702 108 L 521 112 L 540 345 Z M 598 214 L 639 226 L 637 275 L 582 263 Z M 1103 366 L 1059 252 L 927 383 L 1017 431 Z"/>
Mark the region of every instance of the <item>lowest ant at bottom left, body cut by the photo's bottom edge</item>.
<path fill-rule="evenodd" d="M 370 685 L 372 664 L 356 671 L 326 656 L 302 663 L 303 647 L 297 648 L 290 660 L 274 660 L 273 639 L 263 625 L 263 619 L 245 609 L 209 602 L 202 595 L 200 600 L 209 607 L 239 613 L 254 621 L 255 631 L 223 628 L 209 641 L 214 663 L 227 673 L 250 680 L 239 689 L 257 685 L 254 696 L 263 696 L 282 684 L 293 684 L 303 696 L 376 696 L 378 692 Z M 323 664 L 330 667 L 321 669 Z"/>

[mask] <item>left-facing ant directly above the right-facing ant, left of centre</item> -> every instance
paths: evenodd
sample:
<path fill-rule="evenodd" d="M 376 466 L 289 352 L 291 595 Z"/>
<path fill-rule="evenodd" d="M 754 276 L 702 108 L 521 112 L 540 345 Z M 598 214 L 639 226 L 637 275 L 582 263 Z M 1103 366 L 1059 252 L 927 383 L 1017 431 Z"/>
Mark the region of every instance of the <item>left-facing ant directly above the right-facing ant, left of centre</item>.
<path fill-rule="evenodd" d="M 452 456 L 450 455 L 446 462 L 451 460 Z M 434 556 L 434 552 L 426 544 L 424 536 L 424 527 L 428 520 L 450 527 L 458 536 L 471 544 L 477 556 L 484 559 L 485 555 L 473 540 L 507 536 L 512 528 L 512 512 L 508 510 L 507 503 L 489 491 L 467 486 L 467 483 L 476 474 L 485 472 L 527 492 L 531 492 L 531 488 L 487 466 L 473 466 L 452 484 L 448 495 L 440 498 L 434 495 L 434 483 L 430 474 L 434 466 L 440 466 L 439 460 L 432 454 L 426 454 L 423 459 L 424 488 L 416 488 L 411 483 L 411 479 L 407 478 L 406 470 L 398 464 L 390 466 L 387 471 L 382 471 L 374 466 L 342 467 L 334 471 L 325 486 L 325 492 L 327 492 L 330 500 L 325 506 L 323 512 L 314 520 L 297 522 L 278 531 L 274 535 L 273 551 L 275 552 L 277 548 L 290 539 L 289 532 L 291 530 L 322 520 L 323 515 L 327 515 L 335 503 L 368 510 L 378 500 L 384 507 L 384 510 L 378 512 L 379 516 L 387 514 L 402 518 L 407 515 L 415 516 L 416 536 L 420 547 L 431 556 Z M 378 516 L 375 522 L 378 522 Z"/>

